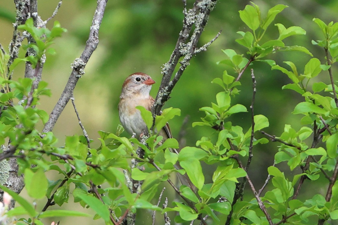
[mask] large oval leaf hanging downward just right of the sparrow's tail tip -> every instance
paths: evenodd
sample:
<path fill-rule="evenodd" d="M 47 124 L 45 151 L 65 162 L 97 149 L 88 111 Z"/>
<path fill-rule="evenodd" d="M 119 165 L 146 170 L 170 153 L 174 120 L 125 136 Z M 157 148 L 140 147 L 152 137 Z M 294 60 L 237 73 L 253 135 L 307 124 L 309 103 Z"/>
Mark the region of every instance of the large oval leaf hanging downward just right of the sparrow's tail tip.
<path fill-rule="evenodd" d="M 191 182 L 198 188 L 202 189 L 204 184 L 204 175 L 202 172 L 202 167 L 198 159 L 191 158 L 179 163 L 183 169 L 187 172 L 188 177 Z"/>

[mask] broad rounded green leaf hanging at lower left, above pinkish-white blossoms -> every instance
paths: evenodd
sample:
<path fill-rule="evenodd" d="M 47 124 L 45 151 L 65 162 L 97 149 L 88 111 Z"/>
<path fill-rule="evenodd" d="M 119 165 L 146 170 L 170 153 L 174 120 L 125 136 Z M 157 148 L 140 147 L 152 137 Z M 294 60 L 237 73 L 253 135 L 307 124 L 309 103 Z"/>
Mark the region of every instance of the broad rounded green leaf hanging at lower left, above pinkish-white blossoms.
<path fill-rule="evenodd" d="M 25 184 L 30 197 L 41 199 L 46 196 L 48 180 L 43 169 L 38 169 L 35 173 L 30 169 L 25 169 Z"/>

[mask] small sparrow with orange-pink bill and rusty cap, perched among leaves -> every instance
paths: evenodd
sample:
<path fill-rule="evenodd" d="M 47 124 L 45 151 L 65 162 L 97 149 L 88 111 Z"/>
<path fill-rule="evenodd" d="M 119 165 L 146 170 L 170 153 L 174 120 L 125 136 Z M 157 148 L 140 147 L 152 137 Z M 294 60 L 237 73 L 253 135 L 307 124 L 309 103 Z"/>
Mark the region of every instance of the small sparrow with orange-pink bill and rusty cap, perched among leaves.
<path fill-rule="evenodd" d="M 151 110 L 155 100 L 149 95 L 149 92 L 151 85 L 154 83 L 155 81 L 151 79 L 149 75 L 139 72 L 129 75 L 122 85 L 118 106 L 120 121 L 129 134 L 132 135 L 132 133 L 136 133 L 138 138 L 147 130 L 147 126 L 141 117 L 140 110 L 135 107 L 141 105 L 147 110 Z M 159 134 L 163 136 L 163 140 L 172 138 L 168 123 L 162 128 Z M 171 151 L 178 154 L 176 149 L 171 149 Z M 178 170 L 182 169 L 178 161 L 174 166 Z M 178 174 L 178 178 L 182 184 L 190 186 L 190 188 L 196 192 L 196 187 L 191 183 L 187 174 Z"/>

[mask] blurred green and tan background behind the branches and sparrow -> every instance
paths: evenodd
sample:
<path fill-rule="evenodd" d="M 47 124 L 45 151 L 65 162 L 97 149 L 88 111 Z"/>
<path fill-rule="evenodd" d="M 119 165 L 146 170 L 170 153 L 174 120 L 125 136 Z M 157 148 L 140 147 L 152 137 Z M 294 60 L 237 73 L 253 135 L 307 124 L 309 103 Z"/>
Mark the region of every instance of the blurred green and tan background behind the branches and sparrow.
<path fill-rule="evenodd" d="M 188 7 L 194 1 L 188 0 Z M 265 16 L 269 8 L 276 4 L 286 4 L 286 8 L 276 17 L 274 23 L 282 23 L 286 27 L 301 26 L 307 31 L 307 35 L 294 36 L 286 39 L 287 45 L 303 45 L 325 63 L 324 51 L 311 45 L 311 40 L 322 38 L 317 25 L 312 22 L 314 17 L 324 22 L 337 21 L 338 1 L 335 0 L 254 0 L 261 8 Z M 51 16 L 58 0 L 39 1 L 38 11 L 43 20 Z M 191 123 L 199 121 L 204 114 L 198 109 L 202 106 L 210 106 L 215 101 L 215 95 L 221 89 L 212 84 L 215 77 L 221 77 L 224 65 L 216 65 L 217 61 L 225 58 L 221 49 L 231 48 L 238 54 L 246 54 L 244 47 L 235 42 L 240 38 L 237 31 L 247 31 L 248 28 L 241 22 L 238 10 L 242 10 L 249 1 L 218 1 L 214 11 L 211 12 L 206 30 L 203 32 L 199 45 L 210 41 L 219 30 L 220 37 L 209 47 L 206 52 L 194 56 L 190 66 L 184 72 L 182 78 L 175 86 L 171 99 L 165 107 L 177 107 L 182 110 L 182 115 L 170 122 L 172 133 L 175 137 L 181 129 L 182 122 L 189 116 L 189 122 L 184 136 L 185 145 L 194 146 L 201 136 L 212 136 L 216 132 L 206 127 L 191 127 Z M 70 64 L 79 57 L 88 38 L 89 27 L 96 7 L 94 0 L 63 1 L 55 18 L 47 24 L 51 28 L 53 21 L 58 20 L 67 28 L 68 32 L 62 38 L 58 38 L 53 45 L 56 55 L 47 55 L 47 61 L 43 70 L 43 80 L 49 83 L 52 97 L 41 99 L 41 109 L 50 113 L 57 102 L 71 72 Z M 155 97 L 161 82 L 161 65 L 169 59 L 174 49 L 178 33 L 182 29 L 183 4 L 180 0 L 115 0 L 108 1 L 102 25 L 99 32 L 100 43 L 86 66 L 86 74 L 79 80 L 75 89 L 75 103 L 80 114 L 82 124 L 87 129 L 92 147 L 98 147 L 98 130 L 115 132 L 119 124 L 117 104 L 124 79 L 134 72 L 149 74 L 156 83 L 151 94 Z M 7 50 L 13 33 L 12 22 L 15 18 L 15 5 L 11 0 L 2 0 L 0 3 L 0 43 Z M 270 25 L 266 40 L 278 37 L 277 27 Z M 264 43 L 264 40 L 263 40 Z M 22 52 L 22 55 L 24 53 Z M 283 61 L 293 61 L 298 67 L 298 72 L 304 71 L 304 65 L 311 58 L 300 52 L 279 52 L 269 56 L 277 64 L 286 67 Z M 249 67 L 251 68 L 251 67 Z M 284 124 L 291 124 L 298 130 L 301 127 L 301 116 L 291 115 L 294 106 L 302 101 L 302 97 L 291 90 L 282 91 L 281 87 L 289 83 L 286 75 L 280 71 L 271 71 L 263 62 L 254 62 L 257 79 L 257 94 L 255 102 L 255 114 L 264 114 L 270 121 L 270 127 L 265 129 L 270 134 L 279 136 L 284 129 Z M 333 71 L 337 71 L 333 68 Z M 236 76 L 231 70 L 229 74 Z M 23 77 L 24 65 L 16 69 L 14 79 Z M 251 104 L 252 84 L 250 72 L 247 70 L 241 79 L 239 87 L 241 94 L 234 98 L 233 104 L 241 103 L 248 109 Z M 322 72 L 317 80 L 329 82 L 329 75 Z M 233 125 L 243 126 L 244 131 L 251 126 L 249 113 L 241 113 L 230 119 Z M 40 130 L 42 129 L 42 124 Z M 74 109 L 71 104 L 66 106 L 63 114 L 53 130 L 63 146 L 65 136 L 81 135 Z M 127 133 L 124 133 L 128 136 Z M 257 134 L 256 138 L 260 138 Z M 273 155 L 276 153 L 278 143 L 269 143 L 254 148 L 254 158 L 251 163 L 249 176 L 259 189 L 267 176 L 266 168 L 273 163 Z M 181 146 L 184 147 L 184 146 Z M 243 159 L 244 160 L 244 159 Z M 283 165 L 281 165 L 283 167 Z M 208 171 L 206 171 L 208 172 Z M 292 174 L 299 173 L 295 170 Z M 286 172 L 286 175 L 291 175 Z M 211 176 L 211 175 L 210 175 Z M 211 177 L 206 178 L 207 181 Z M 306 190 L 313 190 L 311 181 L 306 181 L 303 194 Z M 316 193 L 324 194 L 326 186 L 316 188 Z M 248 196 L 250 197 L 250 195 Z M 72 202 L 72 199 L 69 200 Z M 44 204 L 44 203 L 41 203 Z M 43 205 L 40 205 L 43 207 Z M 38 205 L 38 207 L 40 207 Z M 72 205 L 67 205 L 71 208 Z M 56 207 L 55 207 L 56 208 Z M 81 221 L 82 224 L 92 224 L 91 220 L 79 218 L 67 218 L 61 224 L 71 224 Z M 103 224 L 95 221 L 95 224 Z"/>

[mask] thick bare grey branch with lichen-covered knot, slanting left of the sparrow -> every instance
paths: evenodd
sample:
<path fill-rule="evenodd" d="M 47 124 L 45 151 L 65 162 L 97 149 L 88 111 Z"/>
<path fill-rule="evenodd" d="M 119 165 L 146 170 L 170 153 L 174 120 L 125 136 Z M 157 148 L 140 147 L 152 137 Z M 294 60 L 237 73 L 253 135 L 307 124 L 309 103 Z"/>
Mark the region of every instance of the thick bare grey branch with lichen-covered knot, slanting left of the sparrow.
<path fill-rule="evenodd" d="M 108 0 L 98 0 L 97 7 L 95 9 L 92 26 L 90 27 L 89 38 L 86 42 L 86 47 L 84 48 L 80 58 L 75 59 L 73 64 L 73 71 L 68 79 L 68 82 L 65 86 L 64 91 L 62 92 L 59 100 L 57 101 L 53 111 L 49 115 L 49 120 L 45 124 L 42 132 L 49 132 L 52 131 L 54 125 L 61 115 L 62 111 L 64 110 L 66 104 L 68 103 L 69 99 L 71 98 L 75 85 L 81 75 L 84 73 L 83 69 L 86 66 L 90 56 L 96 49 L 99 43 L 99 28 L 101 25 L 101 21 L 103 18 L 104 9 L 106 7 Z"/>

